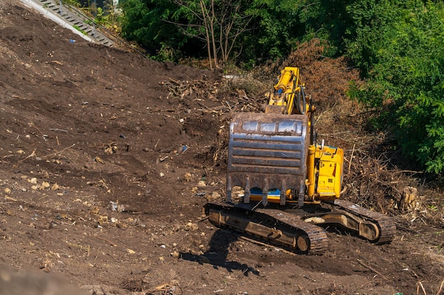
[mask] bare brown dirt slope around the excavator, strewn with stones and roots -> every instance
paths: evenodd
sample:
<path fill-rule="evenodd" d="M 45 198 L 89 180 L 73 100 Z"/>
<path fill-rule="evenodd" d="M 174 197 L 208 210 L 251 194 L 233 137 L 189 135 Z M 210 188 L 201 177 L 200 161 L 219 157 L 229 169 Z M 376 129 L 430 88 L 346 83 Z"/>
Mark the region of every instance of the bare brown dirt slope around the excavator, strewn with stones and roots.
<path fill-rule="evenodd" d="M 0 294 L 60 294 L 45 279 L 72 294 L 442 287 L 442 221 L 387 211 L 392 243 L 329 231 L 319 256 L 211 226 L 203 206 L 225 196 L 228 120 L 248 108 L 248 91 L 223 92 L 220 74 L 92 45 L 13 0 L 0 2 L 0 69 Z M 313 91 L 329 88 L 316 77 Z"/>

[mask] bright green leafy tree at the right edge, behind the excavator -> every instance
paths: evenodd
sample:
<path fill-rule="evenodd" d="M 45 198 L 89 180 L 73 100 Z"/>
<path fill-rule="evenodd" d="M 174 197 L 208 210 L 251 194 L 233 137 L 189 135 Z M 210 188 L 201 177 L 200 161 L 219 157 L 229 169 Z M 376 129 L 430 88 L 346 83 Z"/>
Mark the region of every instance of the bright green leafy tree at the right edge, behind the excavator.
<path fill-rule="evenodd" d="M 350 57 L 370 79 L 358 97 L 379 110 L 406 156 L 444 173 L 444 13 L 423 1 L 362 1 Z"/>

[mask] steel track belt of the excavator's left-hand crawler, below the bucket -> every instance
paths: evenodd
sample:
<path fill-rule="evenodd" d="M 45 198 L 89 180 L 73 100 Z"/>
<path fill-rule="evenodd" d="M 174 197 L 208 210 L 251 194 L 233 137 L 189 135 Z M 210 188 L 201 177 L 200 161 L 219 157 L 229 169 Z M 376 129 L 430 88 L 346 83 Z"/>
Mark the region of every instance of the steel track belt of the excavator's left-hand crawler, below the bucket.
<path fill-rule="evenodd" d="M 289 235 L 290 238 L 294 238 L 294 245 L 289 245 L 286 243 L 288 248 L 296 252 L 301 252 L 305 254 L 311 255 L 321 255 L 328 248 L 328 238 L 326 231 L 320 226 L 316 226 L 315 224 L 309 224 L 308 222 L 300 219 L 297 215 L 283 212 L 278 209 L 254 209 L 252 204 L 228 204 L 226 202 L 210 202 L 206 204 L 206 214 L 209 214 L 210 209 L 218 212 L 223 211 L 231 211 L 231 212 L 246 212 L 250 215 L 256 215 L 260 220 L 270 219 L 272 220 L 272 224 L 274 225 L 273 231 L 279 231 L 280 233 L 287 233 L 288 229 L 283 229 L 284 227 L 290 228 L 291 232 L 293 232 L 292 236 Z M 210 218 L 211 220 L 211 218 Z M 220 222 L 220 221 L 216 221 Z M 252 224 L 260 224 L 250 220 Z M 215 224 L 216 225 L 216 224 Z M 239 230 L 229 224 L 225 224 L 226 226 Z M 280 226 L 280 229 L 279 229 Z M 248 229 L 245 229 L 246 232 L 251 233 Z M 296 233 L 299 233 L 296 235 Z M 265 237 L 268 238 L 268 237 Z M 269 238 L 270 240 L 274 240 L 274 238 Z M 276 239 L 274 241 L 279 241 Z M 302 247 L 301 247 L 302 245 Z M 304 249 L 306 248 L 306 249 Z"/>

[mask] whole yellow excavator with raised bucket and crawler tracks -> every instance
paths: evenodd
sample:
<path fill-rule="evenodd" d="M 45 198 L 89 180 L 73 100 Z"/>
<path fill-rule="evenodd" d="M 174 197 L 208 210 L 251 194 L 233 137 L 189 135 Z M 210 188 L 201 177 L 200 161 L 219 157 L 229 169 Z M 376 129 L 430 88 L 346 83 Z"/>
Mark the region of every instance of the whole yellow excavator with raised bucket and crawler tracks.
<path fill-rule="evenodd" d="M 396 226 L 389 216 L 339 199 L 343 149 L 316 144 L 314 111 L 299 68 L 286 66 L 265 112 L 233 115 L 226 200 L 205 205 L 211 224 L 301 254 L 328 248 L 328 226 L 372 243 L 392 241 Z"/>

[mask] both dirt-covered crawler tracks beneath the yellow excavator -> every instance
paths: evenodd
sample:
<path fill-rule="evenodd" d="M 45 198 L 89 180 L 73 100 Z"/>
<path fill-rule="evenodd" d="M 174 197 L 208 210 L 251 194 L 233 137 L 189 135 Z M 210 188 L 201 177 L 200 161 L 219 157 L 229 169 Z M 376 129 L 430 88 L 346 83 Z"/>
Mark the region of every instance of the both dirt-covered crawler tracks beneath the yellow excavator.
<path fill-rule="evenodd" d="M 337 200 L 332 206 L 331 211 L 310 215 L 318 219 L 280 209 L 255 208 L 255 203 L 209 202 L 205 212 L 215 226 L 262 237 L 301 254 L 320 255 L 328 248 L 323 229 L 327 225 L 343 226 L 372 243 L 393 240 L 396 226 L 389 216 L 343 200 Z"/>

